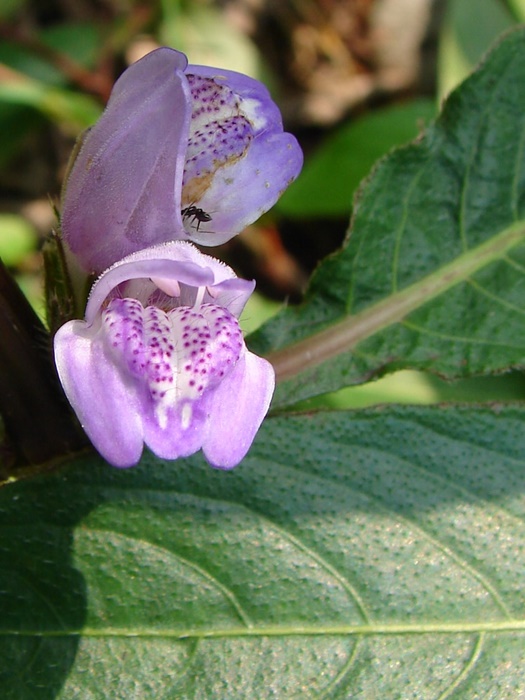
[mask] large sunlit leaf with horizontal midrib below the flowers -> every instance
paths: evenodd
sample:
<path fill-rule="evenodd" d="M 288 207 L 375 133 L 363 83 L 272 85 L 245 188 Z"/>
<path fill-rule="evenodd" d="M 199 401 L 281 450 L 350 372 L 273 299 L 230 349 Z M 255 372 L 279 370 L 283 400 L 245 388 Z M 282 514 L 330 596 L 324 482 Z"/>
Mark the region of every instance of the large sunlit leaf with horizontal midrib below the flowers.
<path fill-rule="evenodd" d="M 60 698 L 518 698 L 525 410 L 268 421 L 244 463 L 0 492 L 0 685 Z"/>

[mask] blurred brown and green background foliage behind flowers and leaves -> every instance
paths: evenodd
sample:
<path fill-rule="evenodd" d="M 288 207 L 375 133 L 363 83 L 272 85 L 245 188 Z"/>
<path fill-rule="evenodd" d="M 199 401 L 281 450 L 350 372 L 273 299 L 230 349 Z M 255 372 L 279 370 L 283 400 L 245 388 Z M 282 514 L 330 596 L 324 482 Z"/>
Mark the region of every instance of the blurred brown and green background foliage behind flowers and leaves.
<path fill-rule="evenodd" d="M 257 279 L 249 332 L 300 303 L 318 261 L 344 241 L 374 162 L 417 137 L 493 40 L 523 21 L 525 0 L 1 0 L 0 257 L 41 313 L 41 246 L 75 138 L 127 65 L 173 46 L 190 63 L 264 81 L 305 152 L 274 210 L 215 251 Z M 517 373 L 445 385 L 400 372 L 322 401 L 524 395 Z"/>

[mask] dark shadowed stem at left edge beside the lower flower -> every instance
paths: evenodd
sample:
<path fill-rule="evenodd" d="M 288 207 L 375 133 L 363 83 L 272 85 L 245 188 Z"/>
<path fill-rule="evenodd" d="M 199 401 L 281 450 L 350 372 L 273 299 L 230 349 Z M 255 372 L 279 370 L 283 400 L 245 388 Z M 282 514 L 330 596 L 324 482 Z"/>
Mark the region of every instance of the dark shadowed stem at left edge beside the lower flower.
<path fill-rule="evenodd" d="M 0 476 L 86 444 L 56 377 L 49 335 L 0 261 Z"/>

